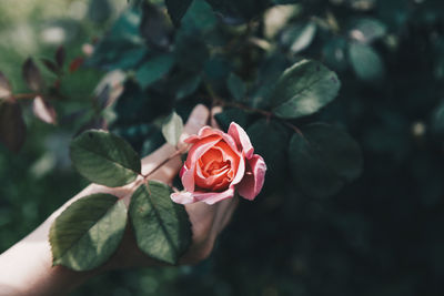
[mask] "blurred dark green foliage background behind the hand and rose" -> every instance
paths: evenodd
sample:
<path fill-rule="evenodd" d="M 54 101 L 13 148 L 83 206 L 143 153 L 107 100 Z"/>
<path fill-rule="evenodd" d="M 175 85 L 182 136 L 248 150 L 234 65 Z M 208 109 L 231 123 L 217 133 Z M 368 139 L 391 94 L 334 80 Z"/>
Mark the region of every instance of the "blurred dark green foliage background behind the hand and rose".
<path fill-rule="evenodd" d="M 161 17 L 151 14 L 160 21 L 147 22 L 140 10 L 127 10 L 124 0 L 3 1 L 0 69 L 24 92 L 20 65 L 29 55 L 50 58 L 64 44 L 72 60 L 99 38 L 87 61 L 94 68 L 64 82 L 75 100 L 57 108 L 70 114 L 90 106 L 104 73 L 94 69 L 127 70 L 132 79 L 105 116 L 144 155 L 162 143 L 154 119 L 172 105 L 186 116 L 208 96 L 202 78 L 233 102 L 246 93 L 242 103 L 264 108 L 261 98 L 270 86 L 264 81 L 312 58 L 335 71 L 342 88 L 321 113 L 296 123 L 322 120 L 345 127 L 362 147 L 363 174 L 329 198 L 280 186 L 290 180 L 282 147 L 289 132 L 274 121 L 261 125 L 259 115 L 228 109 L 221 124 L 236 119 L 249 126 L 258 152 L 280 172 L 270 174 L 265 194 L 241 202 L 202 264 L 112 272 L 72 295 L 442 295 L 444 2 L 208 2 L 216 13 L 200 6 L 173 37 L 169 25 L 159 24 Z M 172 42 L 181 59 L 171 57 Z M 182 71 L 168 80 L 153 78 L 151 69 L 168 74 L 172 60 Z M 24 119 L 29 131 L 20 154 L 0 147 L 0 251 L 85 185 L 70 167 L 67 147 L 87 120 L 52 126 Z"/>

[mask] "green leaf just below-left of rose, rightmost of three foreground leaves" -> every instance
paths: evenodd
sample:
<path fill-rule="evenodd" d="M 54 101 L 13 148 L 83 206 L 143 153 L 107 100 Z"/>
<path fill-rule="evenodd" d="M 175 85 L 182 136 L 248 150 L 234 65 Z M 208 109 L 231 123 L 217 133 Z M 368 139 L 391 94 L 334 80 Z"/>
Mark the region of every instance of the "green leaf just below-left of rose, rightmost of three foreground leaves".
<path fill-rule="evenodd" d="M 185 208 L 171 201 L 171 188 L 150 181 L 131 198 L 130 220 L 135 241 L 147 255 L 176 264 L 191 244 L 191 224 Z"/>

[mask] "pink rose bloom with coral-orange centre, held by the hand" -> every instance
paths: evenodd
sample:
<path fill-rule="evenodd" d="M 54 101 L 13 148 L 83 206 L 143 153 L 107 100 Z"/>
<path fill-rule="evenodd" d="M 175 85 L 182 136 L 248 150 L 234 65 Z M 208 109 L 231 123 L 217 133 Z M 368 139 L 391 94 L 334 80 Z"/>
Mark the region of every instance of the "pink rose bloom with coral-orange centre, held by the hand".
<path fill-rule="evenodd" d="M 192 146 L 180 172 L 184 191 L 171 194 L 175 203 L 214 204 L 233 197 L 235 190 L 252 201 L 261 192 L 265 162 L 253 154 L 250 137 L 236 123 L 228 133 L 204 126 L 184 142 Z"/>

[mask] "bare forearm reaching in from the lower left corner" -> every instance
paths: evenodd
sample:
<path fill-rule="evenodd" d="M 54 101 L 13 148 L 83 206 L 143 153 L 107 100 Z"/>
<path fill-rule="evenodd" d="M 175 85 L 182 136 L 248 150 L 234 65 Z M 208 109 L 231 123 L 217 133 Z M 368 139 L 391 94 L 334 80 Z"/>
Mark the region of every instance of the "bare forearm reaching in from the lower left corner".
<path fill-rule="evenodd" d="M 62 295 L 93 272 L 73 272 L 63 266 L 52 267 L 49 229 L 56 217 L 73 201 L 101 190 L 90 185 L 54 212 L 37 229 L 0 255 L 0 295 Z"/>

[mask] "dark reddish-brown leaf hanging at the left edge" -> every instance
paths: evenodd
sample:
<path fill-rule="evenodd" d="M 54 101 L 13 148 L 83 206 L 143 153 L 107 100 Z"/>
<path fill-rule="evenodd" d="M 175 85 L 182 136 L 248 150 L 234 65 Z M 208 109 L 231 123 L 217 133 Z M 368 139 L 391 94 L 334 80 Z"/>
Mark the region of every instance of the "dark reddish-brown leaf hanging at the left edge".
<path fill-rule="evenodd" d="M 12 152 L 24 143 L 27 125 L 17 101 L 0 100 L 0 141 Z"/>

